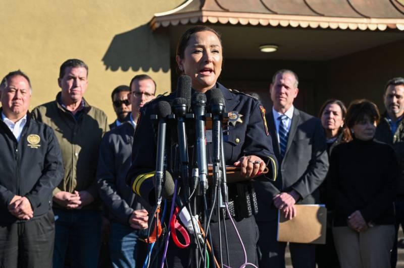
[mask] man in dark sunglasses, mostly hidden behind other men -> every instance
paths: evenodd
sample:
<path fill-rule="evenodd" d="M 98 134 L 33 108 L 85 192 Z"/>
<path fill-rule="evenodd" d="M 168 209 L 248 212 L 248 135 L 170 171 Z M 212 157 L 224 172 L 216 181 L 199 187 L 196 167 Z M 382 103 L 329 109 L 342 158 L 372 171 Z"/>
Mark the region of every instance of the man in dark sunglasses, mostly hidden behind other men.
<path fill-rule="evenodd" d="M 123 122 L 129 120 L 128 114 L 132 109 L 132 105 L 128 98 L 128 93 L 130 88 L 128 86 L 122 85 L 116 87 L 111 94 L 112 104 L 114 106 L 114 111 L 117 115 L 117 119 L 110 124 L 110 129 L 121 125 Z"/>

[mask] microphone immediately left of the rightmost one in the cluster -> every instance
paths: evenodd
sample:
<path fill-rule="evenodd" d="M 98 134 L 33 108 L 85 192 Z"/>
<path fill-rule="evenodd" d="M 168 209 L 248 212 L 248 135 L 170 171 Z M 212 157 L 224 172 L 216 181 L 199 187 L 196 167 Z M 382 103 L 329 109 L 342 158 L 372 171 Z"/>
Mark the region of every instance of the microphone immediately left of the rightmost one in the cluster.
<path fill-rule="evenodd" d="M 192 111 L 195 115 L 195 149 L 198 162 L 198 175 L 200 188 L 203 194 L 206 194 L 208 188 L 208 164 L 206 157 L 206 138 L 205 138 L 205 93 L 195 92 L 192 95 Z M 196 183 L 194 183 L 196 187 Z"/>

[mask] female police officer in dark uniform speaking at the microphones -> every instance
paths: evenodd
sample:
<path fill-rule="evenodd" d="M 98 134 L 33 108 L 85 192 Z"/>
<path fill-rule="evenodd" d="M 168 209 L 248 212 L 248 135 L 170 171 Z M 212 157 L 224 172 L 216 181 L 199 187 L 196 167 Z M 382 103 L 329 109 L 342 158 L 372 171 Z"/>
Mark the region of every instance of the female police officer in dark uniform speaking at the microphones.
<path fill-rule="evenodd" d="M 243 207 L 238 189 L 245 186 L 251 188 L 252 178 L 267 180 L 276 178 L 277 162 L 272 150 L 272 142 L 269 137 L 265 121 L 265 109 L 258 100 L 243 93 L 232 91 L 217 82 L 222 71 L 222 43 L 218 33 L 206 26 L 195 26 L 188 29 L 180 38 L 177 47 L 176 61 L 183 74 L 191 77 L 192 90 L 208 95 L 212 88 L 219 88 L 225 99 L 227 112 L 232 112 L 242 120 L 229 124 L 228 140 L 224 143 L 224 155 L 226 165 L 240 167 L 240 175 L 244 178 L 241 183 L 228 183 L 229 200 L 234 200 L 233 215 L 235 226 L 243 241 L 247 262 L 257 264 L 256 243 L 258 241 L 258 228 L 254 217 L 242 213 Z M 160 97 L 159 100 L 171 102 L 175 94 Z M 150 123 L 150 114 L 153 114 L 151 103 L 145 105 L 141 111 L 141 119 L 136 128 L 132 167 L 128 173 L 127 181 L 132 189 L 150 203 L 153 198 L 148 198 L 153 192 L 153 171 L 156 166 L 156 141 L 150 133 L 153 127 Z M 241 117 L 242 116 L 242 117 Z M 209 145 L 208 145 L 209 146 Z M 208 150 L 209 151 L 209 150 Z M 268 167 L 269 172 L 258 176 Z M 135 187 L 134 187 L 135 185 Z M 250 196 L 254 198 L 254 196 Z M 247 202 L 245 200 L 245 202 Z M 238 205 L 237 205 L 238 204 Z M 241 204 L 241 205 L 239 205 Z M 265 208 L 259 208 L 265 209 Z M 240 212 L 241 211 L 241 212 Z M 245 263 L 244 250 L 229 219 L 222 220 L 222 238 L 224 238 L 224 224 L 227 229 L 228 251 L 231 252 L 230 263 L 227 263 L 226 245 L 222 243 L 223 263 L 231 267 L 240 267 Z M 218 224 L 211 223 L 210 229 L 216 258 L 220 262 Z M 223 239 L 224 241 L 224 239 Z M 188 250 L 188 251 L 187 251 Z M 167 262 L 169 267 L 184 267 L 189 263 L 189 249 L 169 246 Z M 213 260 L 211 259 L 211 262 Z"/>

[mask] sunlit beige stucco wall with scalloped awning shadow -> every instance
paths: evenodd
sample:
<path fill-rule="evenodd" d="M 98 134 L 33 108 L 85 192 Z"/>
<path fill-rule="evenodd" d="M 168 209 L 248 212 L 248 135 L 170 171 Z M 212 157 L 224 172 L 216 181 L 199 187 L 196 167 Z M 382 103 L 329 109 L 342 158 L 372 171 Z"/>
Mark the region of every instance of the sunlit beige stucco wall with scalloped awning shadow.
<path fill-rule="evenodd" d="M 79 58 L 89 66 L 86 100 L 114 120 L 111 91 L 147 73 L 158 93 L 170 90 L 169 40 L 147 23 L 182 0 L 0 1 L 0 77 L 21 69 L 31 79 L 31 109 L 54 100 L 59 66 Z"/>

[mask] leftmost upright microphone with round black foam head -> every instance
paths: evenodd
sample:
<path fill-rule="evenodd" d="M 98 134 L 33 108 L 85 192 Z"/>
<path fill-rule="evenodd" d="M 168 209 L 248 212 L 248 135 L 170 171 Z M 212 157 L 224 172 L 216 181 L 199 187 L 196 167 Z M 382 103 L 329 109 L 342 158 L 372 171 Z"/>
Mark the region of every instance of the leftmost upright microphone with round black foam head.
<path fill-rule="evenodd" d="M 164 180 L 164 156 L 166 150 L 166 128 L 167 116 L 171 114 L 171 106 L 167 101 L 159 101 L 155 107 L 158 116 L 158 134 L 157 134 L 157 160 L 156 160 L 156 202 L 161 202 L 161 193 Z"/>

